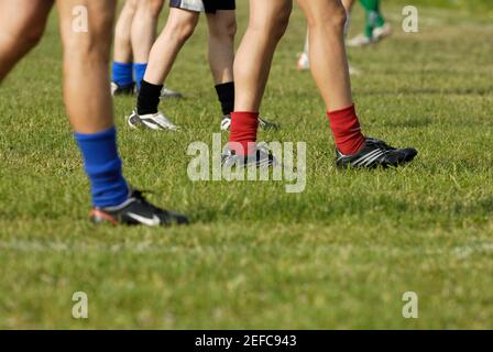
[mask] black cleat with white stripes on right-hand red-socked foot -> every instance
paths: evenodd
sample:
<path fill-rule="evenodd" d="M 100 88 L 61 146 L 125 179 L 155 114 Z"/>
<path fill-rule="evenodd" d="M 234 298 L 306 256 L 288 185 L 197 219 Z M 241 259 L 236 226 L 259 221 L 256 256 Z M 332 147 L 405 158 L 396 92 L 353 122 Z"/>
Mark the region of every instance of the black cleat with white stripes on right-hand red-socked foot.
<path fill-rule="evenodd" d="M 363 148 L 354 155 L 343 155 L 336 148 L 336 165 L 348 168 L 396 167 L 409 163 L 417 154 L 415 148 L 395 148 L 383 141 L 366 138 Z"/>

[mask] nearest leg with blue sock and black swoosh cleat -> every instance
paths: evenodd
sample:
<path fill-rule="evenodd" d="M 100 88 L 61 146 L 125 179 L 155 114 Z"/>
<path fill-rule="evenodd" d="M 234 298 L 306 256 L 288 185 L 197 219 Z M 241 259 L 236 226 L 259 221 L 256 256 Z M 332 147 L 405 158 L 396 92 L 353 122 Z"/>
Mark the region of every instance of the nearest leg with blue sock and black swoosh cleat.
<path fill-rule="evenodd" d="M 74 9 L 87 11 L 88 29 L 73 29 Z M 57 0 L 64 45 L 64 100 L 91 183 L 96 222 L 160 226 L 186 223 L 158 209 L 122 176 L 107 78 L 116 0 Z"/>

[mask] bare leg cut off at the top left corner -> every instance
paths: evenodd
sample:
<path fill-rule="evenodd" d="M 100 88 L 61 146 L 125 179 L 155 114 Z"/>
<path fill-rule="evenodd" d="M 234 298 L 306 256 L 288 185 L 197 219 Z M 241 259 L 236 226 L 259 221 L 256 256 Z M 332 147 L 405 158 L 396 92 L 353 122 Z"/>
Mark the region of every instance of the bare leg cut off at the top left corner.
<path fill-rule="evenodd" d="M 0 0 L 0 81 L 43 35 L 53 0 Z"/>

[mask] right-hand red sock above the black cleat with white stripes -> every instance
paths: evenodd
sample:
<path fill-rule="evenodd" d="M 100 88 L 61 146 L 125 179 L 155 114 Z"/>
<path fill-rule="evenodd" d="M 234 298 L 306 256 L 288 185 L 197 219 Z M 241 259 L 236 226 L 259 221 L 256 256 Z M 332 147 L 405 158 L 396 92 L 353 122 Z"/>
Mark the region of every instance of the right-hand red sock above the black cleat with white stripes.
<path fill-rule="evenodd" d="M 361 133 L 360 121 L 358 120 L 354 106 L 337 111 L 328 111 L 330 129 L 338 150 L 344 155 L 358 153 L 364 145 L 365 139 Z"/>

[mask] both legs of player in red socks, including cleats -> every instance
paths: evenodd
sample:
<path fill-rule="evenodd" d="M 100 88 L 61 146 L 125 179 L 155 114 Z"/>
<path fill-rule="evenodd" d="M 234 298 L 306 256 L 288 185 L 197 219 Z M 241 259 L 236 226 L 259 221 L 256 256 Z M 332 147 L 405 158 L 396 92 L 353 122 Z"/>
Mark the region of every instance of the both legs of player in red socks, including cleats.
<path fill-rule="evenodd" d="M 414 148 L 396 150 L 382 141 L 366 140 L 352 105 L 349 68 L 343 45 L 346 10 L 340 0 L 298 0 L 308 21 L 313 74 L 328 108 L 337 144 L 337 164 L 352 167 L 399 165 L 412 161 Z M 230 152 L 223 163 L 240 157 L 251 164 L 272 164 L 254 145 L 258 112 L 280 32 L 270 25 L 284 19 L 291 1 L 251 0 L 250 25 L 234 64 L 237 103 L 232 114 Z M 275 9 L 276 6 L 280 8 Z M 273 11 L 275 10 L 275 11 Z M 281 23 L 278 22 L 278 29 Z M 281 33 L 282 34 L 282 33 Z M 249 65 L 248 59 L 256 65 Z M 253 79 L 253 81 L 252 81 Z M 245 156 L 248 155 L 248 157 Z"/>

